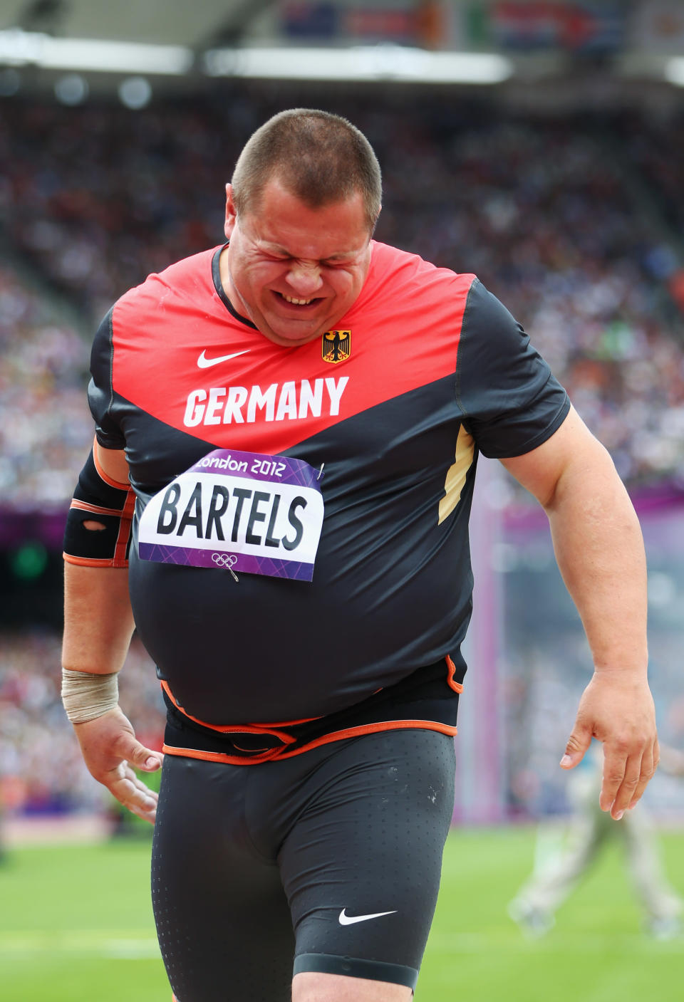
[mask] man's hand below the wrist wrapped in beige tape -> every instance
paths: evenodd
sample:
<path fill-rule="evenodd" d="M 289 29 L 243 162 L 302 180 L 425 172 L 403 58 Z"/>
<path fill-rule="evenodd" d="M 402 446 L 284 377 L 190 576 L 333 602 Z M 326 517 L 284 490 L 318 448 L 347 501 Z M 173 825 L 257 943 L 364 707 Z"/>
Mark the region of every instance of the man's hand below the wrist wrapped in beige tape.
<path fill-rule="evenodd" d="M 118 706 L 94 720 L 74 723 L 73 729 L 90 775 L 132 814 L 153 825 L 157 795 L 138 780 L 133 767 L 154 773 L 161 766 L 161 753 L 140 744 Z"/>

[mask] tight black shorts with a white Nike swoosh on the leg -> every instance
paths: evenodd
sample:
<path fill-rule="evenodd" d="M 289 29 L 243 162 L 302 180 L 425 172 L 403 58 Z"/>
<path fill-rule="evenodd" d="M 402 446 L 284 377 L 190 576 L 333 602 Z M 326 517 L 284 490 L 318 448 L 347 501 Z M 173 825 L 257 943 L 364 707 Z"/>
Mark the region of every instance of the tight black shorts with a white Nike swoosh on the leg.
<path fill-rule="evenodd" d="M 366 734 L 252 768 L 164 761 L 152 903 L 178 1002 L 289 1002 L 293 973 L 415 987 L 453 739 Z"/>

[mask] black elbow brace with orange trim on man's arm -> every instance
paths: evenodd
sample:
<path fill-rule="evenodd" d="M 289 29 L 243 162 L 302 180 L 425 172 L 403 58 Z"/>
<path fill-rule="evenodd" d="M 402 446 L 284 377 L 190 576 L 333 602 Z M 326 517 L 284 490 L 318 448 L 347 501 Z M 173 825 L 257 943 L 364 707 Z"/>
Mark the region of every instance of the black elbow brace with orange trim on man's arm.
<path fill-rule="evenodd" d="M 135 495 L 99 469 L 92 449 L 81 470 L 64 530 L 64 559 L 89 567 L 126 567 Z M 87 529 L 84 522 L 103 528 Z"/>

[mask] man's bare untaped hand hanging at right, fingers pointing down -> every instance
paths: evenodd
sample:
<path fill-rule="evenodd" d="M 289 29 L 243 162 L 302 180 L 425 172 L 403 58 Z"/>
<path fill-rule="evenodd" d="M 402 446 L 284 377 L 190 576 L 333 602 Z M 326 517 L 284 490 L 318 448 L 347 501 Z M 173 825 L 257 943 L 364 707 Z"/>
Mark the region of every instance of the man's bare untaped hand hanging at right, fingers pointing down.
<path fill-rule="evenodd" d="M 603 741 L 603 784 L 599 805 L 620 821 L 636 807 L 658 766 L 660 753 L 653 697 L 645 676 L 596 671 L 580 700 L 575 727 L 561 760 L 574 769 L 592 741 Z"/>

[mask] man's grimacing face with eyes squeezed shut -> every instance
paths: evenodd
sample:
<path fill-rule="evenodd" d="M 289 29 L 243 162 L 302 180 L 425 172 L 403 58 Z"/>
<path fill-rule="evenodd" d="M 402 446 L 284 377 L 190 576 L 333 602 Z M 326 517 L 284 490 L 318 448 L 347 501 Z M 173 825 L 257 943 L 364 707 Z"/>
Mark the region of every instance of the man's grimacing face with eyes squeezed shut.
<path fill-rule="evenodd" d="M 276 345 L 320 337 L 353 305 L 370 268 L 363 198 L 311 208 L 274 177 L 238 217 L 226 185 L 221 280 L 231 303 Z"/>

